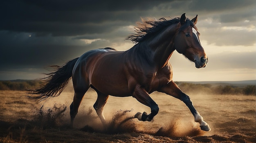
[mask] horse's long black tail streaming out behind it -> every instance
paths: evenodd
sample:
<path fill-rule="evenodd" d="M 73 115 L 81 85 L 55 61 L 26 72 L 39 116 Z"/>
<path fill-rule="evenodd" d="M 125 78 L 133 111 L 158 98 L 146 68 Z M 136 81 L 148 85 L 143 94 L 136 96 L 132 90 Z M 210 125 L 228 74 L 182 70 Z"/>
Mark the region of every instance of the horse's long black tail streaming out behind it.
<path fill-rule="evenodd" d="M 27 97 L 30 99 L 42 101 L 46 100 L 47 98 L 60 95 L 72 76 L 72 70 L 77 60 L 78 58 L 70 60 L 63 66 L 51 66 L 57 69 L 56 72 L 46 74 L 49 76 L 46 78 L 41 78 L 40 80 L 44 80 L 45 84 L 41 85 L 37 89 L 29 89 L 28 94 L 32 95 Z"/>

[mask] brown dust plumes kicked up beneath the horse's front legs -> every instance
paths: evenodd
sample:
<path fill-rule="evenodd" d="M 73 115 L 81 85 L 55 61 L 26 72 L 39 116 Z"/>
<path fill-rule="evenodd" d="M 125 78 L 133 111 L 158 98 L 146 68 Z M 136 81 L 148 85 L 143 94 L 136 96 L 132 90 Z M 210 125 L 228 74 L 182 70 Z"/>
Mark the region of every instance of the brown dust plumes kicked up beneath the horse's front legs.
<path fill-rule="evenodd" d="M 138 121 L 134 118 L 131 110 L 117 111 L 107 129 L 98 130 L 95 125 L 86 125 L 81 130 L 104 134 L 141 133 L 162 137 L 195 137 L 202 136 L 205 133 L 194 121 L 179 118 L 171 119 L 168 123 L 164 123 L 164 125 L 156 129 L 155 127 L 153 128 L 153 123 Z"/>

